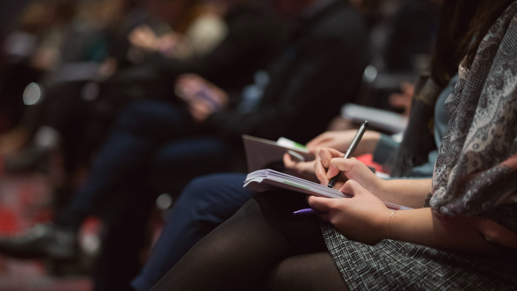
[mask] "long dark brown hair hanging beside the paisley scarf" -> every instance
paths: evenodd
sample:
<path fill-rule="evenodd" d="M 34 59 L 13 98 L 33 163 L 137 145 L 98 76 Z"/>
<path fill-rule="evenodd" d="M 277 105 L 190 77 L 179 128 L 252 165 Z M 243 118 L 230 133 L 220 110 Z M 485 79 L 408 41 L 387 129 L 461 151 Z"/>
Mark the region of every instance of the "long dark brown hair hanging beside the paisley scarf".
<path fill-rule="evenodd" d="M 514 1 L 444 0 L 432 61 L 432 76 L 438 84 L 445 86 L 462 60 L 470 68 L 483 37 Z"/>

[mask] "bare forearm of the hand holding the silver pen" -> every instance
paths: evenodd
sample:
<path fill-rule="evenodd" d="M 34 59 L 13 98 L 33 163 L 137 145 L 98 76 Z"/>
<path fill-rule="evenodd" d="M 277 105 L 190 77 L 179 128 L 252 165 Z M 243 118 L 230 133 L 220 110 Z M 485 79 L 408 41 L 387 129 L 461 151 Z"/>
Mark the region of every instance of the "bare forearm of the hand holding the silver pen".
<path fill-rule="evenodd" d="M 382 180 L 379 190 L 373 193 L 379 199 L 410 208 L 422 208 L 431 191 L 431 179 Z"/>

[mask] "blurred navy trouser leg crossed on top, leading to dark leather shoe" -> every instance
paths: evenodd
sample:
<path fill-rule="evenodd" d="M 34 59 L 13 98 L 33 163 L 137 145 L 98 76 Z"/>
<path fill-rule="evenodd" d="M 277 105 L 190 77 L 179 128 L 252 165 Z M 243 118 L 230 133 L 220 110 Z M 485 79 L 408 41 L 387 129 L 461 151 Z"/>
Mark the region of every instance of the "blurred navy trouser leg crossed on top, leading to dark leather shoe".
<path fill-rule="evenodd" d="M 190 129 L 188 114 L 173 104 L 145 100 L 129 105 L 100 150 L 86 185 L 56 217 L 56 224 L 77 229 L 95 203 L 145 173 L 160 144 L 187 136 Z"/>

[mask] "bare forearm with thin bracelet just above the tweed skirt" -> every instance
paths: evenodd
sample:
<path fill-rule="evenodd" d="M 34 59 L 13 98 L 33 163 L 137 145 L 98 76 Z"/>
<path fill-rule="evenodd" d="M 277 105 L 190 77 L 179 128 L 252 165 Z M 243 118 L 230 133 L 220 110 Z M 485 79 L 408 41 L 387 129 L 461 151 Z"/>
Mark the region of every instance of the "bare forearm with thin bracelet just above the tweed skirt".
<path fill-rule="evenodd" d="M 430 208 L 397 211 L 386 222 L 389 237 L 431 248 L 476 253 L 494 250 L 476 230 L 477 217 L 451 217 L 443 224 Z M 389 225 L 388 225 L 389 222 Z"/>

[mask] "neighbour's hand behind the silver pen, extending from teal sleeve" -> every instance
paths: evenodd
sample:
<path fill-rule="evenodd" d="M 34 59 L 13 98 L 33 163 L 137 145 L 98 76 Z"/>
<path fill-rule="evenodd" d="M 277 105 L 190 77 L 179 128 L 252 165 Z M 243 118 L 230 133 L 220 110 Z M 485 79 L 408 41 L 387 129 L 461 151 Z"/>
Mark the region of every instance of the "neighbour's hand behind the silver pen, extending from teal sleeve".
<path fill-rule="evenodd" d="M 332 148 L 345 152 L 356 134 L 357 130 L 355 129 L 326 132 L 309 141 L 307 143 L 307 149 L 314 155 L 317 155 L 321 148 Z M 357 145 L 354 154 L 357 156 L 373 153 L 379 139 L 381 139 L 381 134 L 367 130 Z"/>

